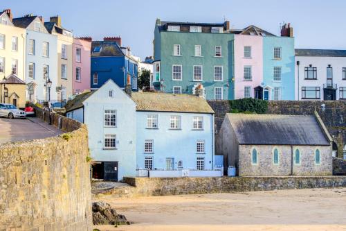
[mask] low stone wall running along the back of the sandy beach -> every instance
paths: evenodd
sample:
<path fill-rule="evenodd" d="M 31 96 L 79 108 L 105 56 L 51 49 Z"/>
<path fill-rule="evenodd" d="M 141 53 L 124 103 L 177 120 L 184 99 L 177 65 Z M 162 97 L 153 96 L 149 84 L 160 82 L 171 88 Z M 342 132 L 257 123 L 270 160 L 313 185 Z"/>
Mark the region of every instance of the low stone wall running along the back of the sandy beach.
<path fill-rule="evenodd" d="M 165 196 L 179 194 L 232 193 L 239 191 L 264 191 L 274 189 L 311 189 L 346 187 L 345 176 L 325 177 L 222 177 L 222 178 L 125 178 L 135 186 L 120 189 L 114 196 Z"/>

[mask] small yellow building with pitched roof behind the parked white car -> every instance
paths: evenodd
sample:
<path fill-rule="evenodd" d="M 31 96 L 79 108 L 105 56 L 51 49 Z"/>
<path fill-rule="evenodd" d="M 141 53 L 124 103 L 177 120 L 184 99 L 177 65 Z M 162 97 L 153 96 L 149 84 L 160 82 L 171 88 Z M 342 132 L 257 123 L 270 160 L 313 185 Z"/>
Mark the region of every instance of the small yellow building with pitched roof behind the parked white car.
<path fill-rule="evenodd" d="M 11 103 L 17 108 L 25 108 L 26 83 L 15 74 L 10 74 L 0 82 L 1 103 Z"/>

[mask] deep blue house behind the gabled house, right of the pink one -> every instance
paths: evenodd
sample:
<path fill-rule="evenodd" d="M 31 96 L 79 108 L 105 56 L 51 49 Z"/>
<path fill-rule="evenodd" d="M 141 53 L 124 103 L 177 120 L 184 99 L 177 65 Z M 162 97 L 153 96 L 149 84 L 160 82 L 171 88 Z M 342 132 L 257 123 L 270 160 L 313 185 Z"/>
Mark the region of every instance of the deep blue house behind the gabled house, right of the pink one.
<path fill-rule="evenodd" d="M 119 87 L 131 84 L 137 90 L 138 63 L 128 47 L 120 46 L 118 39 L 91 43 L 91 89 L 98 89 L 111 79 Z"/>

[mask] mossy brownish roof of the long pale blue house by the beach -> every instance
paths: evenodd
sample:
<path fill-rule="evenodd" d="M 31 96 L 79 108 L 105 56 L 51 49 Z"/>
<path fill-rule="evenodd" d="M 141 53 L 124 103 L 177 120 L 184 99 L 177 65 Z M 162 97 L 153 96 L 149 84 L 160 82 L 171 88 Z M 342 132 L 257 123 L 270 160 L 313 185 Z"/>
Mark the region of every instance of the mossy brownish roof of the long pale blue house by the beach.
<path fill-rule="evenodd" d="M 132 92 L 132 100 L 138 111 L 214 113 L 206 99 L 188 94 Z"/>

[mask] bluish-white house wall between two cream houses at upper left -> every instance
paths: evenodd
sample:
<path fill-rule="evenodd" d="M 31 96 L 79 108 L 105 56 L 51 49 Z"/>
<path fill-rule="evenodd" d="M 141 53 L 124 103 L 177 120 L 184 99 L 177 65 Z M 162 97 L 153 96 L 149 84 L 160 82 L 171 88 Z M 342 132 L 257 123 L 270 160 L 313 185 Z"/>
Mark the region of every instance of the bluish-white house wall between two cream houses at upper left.
<path fill-rule="evenodd" d="M 30 55 L 29 40 L 35 40 L 35 53 Z M 44 57 L 43 54 L 43 42 L 48 42 L 48 57 Z M 35 78 L 28 78 L 29 73 L 29 63 L 35 63 Z M 57 87 L 57 36 L 51 35 L 49 33 L 42 33 L 37 31 L 26 30 L 26 83 L 35 82 L 35 99 L 36 100 L 46 100 L 46 80 L 44 80 L 43 66 L 49 66 L 48 77 L 52 81 L 51 87 L 51 101 L 57 100 L 57 92 L 55 91 Z M 34 99 L 32 99 L 34 100 Z"/>

